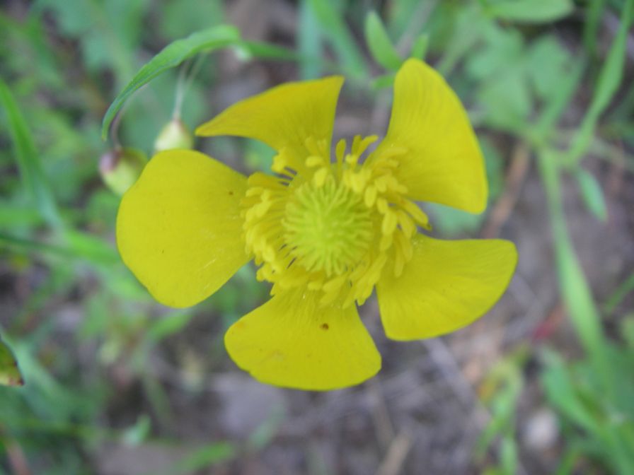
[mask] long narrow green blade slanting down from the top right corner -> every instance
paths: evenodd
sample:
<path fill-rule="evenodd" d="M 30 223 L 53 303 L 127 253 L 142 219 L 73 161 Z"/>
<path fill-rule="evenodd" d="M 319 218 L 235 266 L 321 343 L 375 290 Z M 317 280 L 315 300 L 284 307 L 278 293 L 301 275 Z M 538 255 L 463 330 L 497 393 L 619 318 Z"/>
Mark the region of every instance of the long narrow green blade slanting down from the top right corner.
<path fill-rule="evenodd" d="M 608 107 L 610 100 L 623 81 L 623 65 L 626 61 L 628 30 L 634 16 L 634 0 L 626 0 L 621 14 L 621 25 L 610 47 L 608 57 L 599 73 L 599 81 L 590 107 L 577 130 L 566 158 L 567 165 L 574 165 L 584 155 L 592 142 L 596 122 Z"/>

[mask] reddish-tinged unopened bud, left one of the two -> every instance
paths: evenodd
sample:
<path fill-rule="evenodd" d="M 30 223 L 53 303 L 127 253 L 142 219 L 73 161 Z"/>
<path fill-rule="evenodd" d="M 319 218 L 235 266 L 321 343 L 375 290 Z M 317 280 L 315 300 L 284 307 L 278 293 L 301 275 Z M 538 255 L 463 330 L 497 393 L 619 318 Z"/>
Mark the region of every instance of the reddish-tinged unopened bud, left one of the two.
<path fill-rule="evenodd" d="M 108 188 L 121 196 L 137 181 L 147 157 L 136 148 L 117 148 L 99 159 L 99 172 Z"/>

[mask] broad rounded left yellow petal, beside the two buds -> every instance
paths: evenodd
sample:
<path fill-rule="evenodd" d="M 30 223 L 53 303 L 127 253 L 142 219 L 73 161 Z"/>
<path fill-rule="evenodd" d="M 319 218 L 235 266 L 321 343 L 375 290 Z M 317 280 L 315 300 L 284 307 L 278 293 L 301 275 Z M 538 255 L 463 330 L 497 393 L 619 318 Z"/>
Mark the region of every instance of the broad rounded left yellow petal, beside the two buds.
<path fill-rule="evenodd" d="M 152 158 L 117 215 L 123 262 L 159 302 L 188 307 L 248 261 L 239 203 L 246 177 L 195 151 Z"/>

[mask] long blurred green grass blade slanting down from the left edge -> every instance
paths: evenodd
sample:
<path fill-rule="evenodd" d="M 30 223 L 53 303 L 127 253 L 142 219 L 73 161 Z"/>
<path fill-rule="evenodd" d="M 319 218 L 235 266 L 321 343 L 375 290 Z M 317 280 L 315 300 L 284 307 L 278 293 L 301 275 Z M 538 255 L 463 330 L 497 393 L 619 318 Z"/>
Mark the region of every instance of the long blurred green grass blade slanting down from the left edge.
<path fill-rule="evenodd" d="M 0 105 L 4 107 L 8 122 L 16 162 L 25 188 L 42 218 L 54 228 L 60 228 L 62 221 L 59 218 L 57 204 L 50 191 L 44 170 L 40 163 L 40 156 L 35 148 L 33 136 L 18 104 L 11 94 L 11 90 L 0 78 Z"/>

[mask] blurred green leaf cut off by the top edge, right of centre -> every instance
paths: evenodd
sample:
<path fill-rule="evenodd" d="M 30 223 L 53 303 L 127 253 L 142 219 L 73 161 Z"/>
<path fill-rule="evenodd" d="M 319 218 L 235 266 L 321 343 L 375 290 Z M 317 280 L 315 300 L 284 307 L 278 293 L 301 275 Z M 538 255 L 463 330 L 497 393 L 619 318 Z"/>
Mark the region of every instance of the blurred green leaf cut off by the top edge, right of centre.
<path fill-rule="evenodd" d="M 570 13 L 572 0 L 507 0 L 489 5 L 486 11 L 494 18 L 519 23 L 550 23 Z"/>

